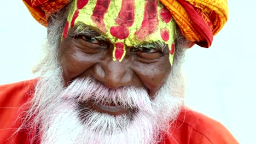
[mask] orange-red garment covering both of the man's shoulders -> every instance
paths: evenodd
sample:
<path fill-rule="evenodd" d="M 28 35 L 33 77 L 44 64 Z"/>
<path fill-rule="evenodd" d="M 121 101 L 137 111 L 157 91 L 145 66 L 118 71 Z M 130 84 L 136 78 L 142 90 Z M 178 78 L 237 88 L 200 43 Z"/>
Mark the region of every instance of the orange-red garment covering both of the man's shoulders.
<path fill-rule="evenodd" d="M 19 127 L 18 115 L 26 109 L 19 108 L 31 99 L 36 80 L 22 81 L 0 86 L 0 143 L 27 144 L 31 137 L 26 131 L 13 135 Z M 172 137 L 165 137 L 162 143 L 224 144 L 238 143 L 230 132 L 220 123 L 199 112 L 183 107 L 177 120 L 170 128 Z M 37 137 L 38 138 L 38 137 Z M 39 138 L 33 143 L 40 143 Z"/>

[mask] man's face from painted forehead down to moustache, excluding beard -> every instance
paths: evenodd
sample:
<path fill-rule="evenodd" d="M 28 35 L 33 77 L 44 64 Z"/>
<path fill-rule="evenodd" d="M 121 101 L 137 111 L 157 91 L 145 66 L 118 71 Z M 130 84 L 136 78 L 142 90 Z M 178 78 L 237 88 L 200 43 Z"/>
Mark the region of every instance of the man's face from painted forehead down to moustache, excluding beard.
<path fill-rule="evenodd" d="M 145 88 L 153 97 L 171 70 L 173 29 L 158 1 L 74 1 L 60 50 L 66 86 L 90 76 L 111 89 Z"/>

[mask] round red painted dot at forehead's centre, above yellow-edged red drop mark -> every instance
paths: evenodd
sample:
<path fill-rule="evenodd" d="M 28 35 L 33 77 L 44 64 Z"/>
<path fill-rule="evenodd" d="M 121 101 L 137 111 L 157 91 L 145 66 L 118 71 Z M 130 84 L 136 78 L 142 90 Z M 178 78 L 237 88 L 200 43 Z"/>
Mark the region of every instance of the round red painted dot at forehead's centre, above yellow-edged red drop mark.
<path fill-rule="evenodd" d="M 125 39 L 129 36 L 129 29 L 124 26 L 113 26 L 110 27 L 110 34 L 118 39 Z"/>

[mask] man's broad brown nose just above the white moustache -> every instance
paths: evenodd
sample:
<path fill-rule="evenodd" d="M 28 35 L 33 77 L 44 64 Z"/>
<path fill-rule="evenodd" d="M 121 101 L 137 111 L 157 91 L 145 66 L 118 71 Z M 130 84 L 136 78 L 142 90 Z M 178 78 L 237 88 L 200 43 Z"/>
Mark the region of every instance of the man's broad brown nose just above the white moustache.
<path fill-rule="evenodd" d="M 99 63 L 94 68 L 94 78 L 106 87 L 115 89 L 132 83 L 132 70 L 127 61 L 108 61 Z"/>

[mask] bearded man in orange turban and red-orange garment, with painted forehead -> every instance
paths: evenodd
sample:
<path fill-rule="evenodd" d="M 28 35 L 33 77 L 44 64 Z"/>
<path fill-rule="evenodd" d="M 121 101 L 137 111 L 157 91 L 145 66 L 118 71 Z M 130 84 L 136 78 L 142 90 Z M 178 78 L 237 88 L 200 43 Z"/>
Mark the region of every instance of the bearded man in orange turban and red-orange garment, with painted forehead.
<path fill-rule="evenodd" d="M 183 105 L 180 70 L 185 48 L 211 46 L 226 1 L 24 3 L 48 54 L 38 79 L 0 87 L 1 143 L 238 143 Z"/>

